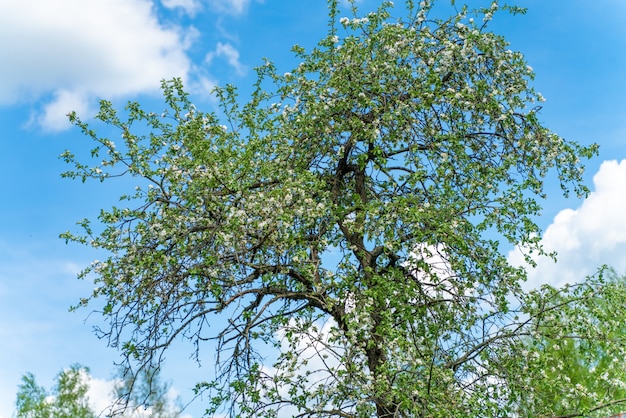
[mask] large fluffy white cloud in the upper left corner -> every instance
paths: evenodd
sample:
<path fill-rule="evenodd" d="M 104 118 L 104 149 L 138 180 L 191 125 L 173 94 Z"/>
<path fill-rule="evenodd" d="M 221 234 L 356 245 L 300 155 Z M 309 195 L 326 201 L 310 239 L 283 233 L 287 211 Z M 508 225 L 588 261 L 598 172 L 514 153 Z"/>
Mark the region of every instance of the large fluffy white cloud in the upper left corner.
<path fill-rule="evenodd" d="M 0 0 L 0 8 L 0 105 L 47 99 L 34 118 L 44 128 L 65 127 L 70 106 L 188 75 L 190 38 L 160 24 L 149 0 Z"/>

